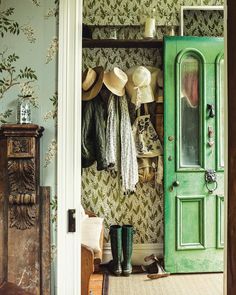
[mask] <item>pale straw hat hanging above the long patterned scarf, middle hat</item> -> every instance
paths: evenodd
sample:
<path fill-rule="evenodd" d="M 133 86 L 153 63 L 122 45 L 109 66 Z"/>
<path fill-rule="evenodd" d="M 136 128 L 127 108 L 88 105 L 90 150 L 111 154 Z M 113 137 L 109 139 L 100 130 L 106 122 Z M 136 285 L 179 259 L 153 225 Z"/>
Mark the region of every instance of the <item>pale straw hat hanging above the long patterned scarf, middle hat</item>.
<path fill-rule="evenodd" d="M 104 84 L 113 94 L 117 96 L 123 96 L 125 94 L 125 85 L 127 81 L 128 77 L 126 73 L 117 67 L 110 72 L 104 73 Z"/>

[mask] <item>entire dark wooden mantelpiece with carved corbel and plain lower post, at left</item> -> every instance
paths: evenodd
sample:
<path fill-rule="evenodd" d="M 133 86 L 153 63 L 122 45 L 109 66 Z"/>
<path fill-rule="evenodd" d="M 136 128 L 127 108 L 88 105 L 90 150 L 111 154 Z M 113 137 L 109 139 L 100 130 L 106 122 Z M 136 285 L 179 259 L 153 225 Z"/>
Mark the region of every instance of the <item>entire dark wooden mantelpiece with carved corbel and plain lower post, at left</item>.
<path fill-rule="evenodd" d="M 0 128 L 0 284 L 50 294 L 50 194 L 40 189 L 39 141 L 44 128 Z"/>

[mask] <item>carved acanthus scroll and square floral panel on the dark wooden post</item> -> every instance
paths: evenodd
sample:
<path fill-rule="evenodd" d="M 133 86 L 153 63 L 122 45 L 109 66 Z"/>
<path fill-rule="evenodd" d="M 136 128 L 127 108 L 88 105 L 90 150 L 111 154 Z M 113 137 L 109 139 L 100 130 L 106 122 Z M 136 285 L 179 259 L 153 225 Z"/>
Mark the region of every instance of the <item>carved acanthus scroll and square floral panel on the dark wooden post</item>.
<path fill-rule="evenodd" d="M 10 138 L 14 158 L 8 161 L 10 227 L 24 230 L 35 223 L 36 218 L 36 181 L 35 159 L 19 159 L 19 154 L 27 154 L 31 138 Z"/>

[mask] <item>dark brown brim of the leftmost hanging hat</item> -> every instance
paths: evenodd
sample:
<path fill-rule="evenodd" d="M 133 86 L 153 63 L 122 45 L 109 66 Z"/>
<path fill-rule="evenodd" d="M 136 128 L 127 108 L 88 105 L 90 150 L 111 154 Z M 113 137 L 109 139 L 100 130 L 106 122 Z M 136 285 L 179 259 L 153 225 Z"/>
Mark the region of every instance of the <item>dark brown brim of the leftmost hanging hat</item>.
<path fill-rule="evenodd" d="M 89 89 L 88 91 L 84 91 L 82 89 L 82 100 L 84 100 L 84 101 L 88 101 L 88 100 L 93 99 L 94 97 L 96 97 L 98 95 L 98 93 L 102 89 L 104 69 L 103 69 L 103 67 L 96 67 L 96 68 L 93 68 L 93 70 L 96 72 L 98 77 L 96 79 L 95 84 L 92 86 L 91 89 Z M 83 76 L 82 76 L 83 81 L 85 79 L 86 73 L 87 73 L 87 70 L 83 73 Z"/>

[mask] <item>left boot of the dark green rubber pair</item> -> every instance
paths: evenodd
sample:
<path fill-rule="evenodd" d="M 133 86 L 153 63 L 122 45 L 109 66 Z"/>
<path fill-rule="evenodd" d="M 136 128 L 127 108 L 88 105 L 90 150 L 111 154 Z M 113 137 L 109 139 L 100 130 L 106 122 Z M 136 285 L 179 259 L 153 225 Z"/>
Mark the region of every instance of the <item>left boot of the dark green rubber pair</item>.
<path fill-rule="evenodd" d="M 120 225 L 110 226 L 110 240 L 112 258 L 109 262 L 109 270 L 116 276 L 122 273 L 121 255 L 122 255 L 122 227 Z"/>

